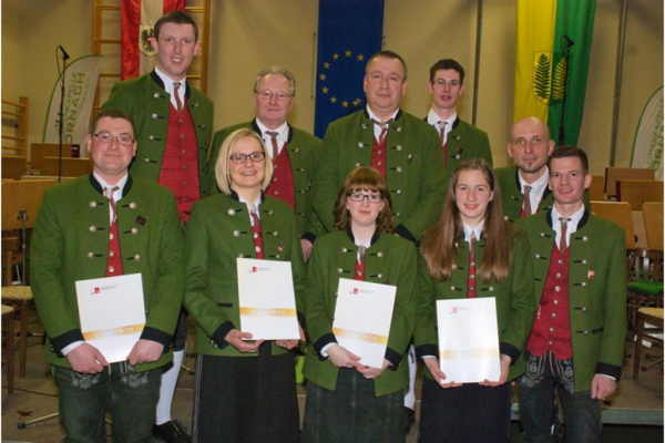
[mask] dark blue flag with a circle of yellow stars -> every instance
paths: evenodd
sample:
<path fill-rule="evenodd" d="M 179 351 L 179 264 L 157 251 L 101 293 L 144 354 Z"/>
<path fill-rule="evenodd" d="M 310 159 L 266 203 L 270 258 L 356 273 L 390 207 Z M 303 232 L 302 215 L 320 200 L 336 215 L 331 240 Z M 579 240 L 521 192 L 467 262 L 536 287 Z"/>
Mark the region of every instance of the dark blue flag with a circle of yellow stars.
<path fill-rule="evenodd" d="M 383 0 L 319 0 L 314 134 L 366 106 L 365 65 L 381 50 Z"/>

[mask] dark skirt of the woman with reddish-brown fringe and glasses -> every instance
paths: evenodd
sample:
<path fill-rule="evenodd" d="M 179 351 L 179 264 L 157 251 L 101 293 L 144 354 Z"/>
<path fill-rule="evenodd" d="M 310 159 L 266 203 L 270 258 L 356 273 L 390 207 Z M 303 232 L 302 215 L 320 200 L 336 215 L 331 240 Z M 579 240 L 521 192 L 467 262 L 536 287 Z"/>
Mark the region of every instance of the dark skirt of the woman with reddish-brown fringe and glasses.
<path fill-rule="evenodd" d="M 403 443 L 403 390 L 376 396 L 374 380 L 342 368 L 335 391 L 307 382 L 303 442 Z"/>

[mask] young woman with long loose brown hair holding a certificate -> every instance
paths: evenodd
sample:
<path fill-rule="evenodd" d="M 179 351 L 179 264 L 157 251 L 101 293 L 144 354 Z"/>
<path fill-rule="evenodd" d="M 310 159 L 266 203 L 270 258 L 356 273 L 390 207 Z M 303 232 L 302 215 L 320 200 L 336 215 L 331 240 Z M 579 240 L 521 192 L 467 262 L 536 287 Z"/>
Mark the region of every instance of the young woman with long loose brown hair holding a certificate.
<path fill-rule="evenodd" d="M 505 442 L 510 431 L 510 381 L 535 312 L 525 234 L 503 218 L 501 190 L 481 158 L 461 162 L 452 175 L 439 220 L 420 251 L 422 286 L 415 332 L 424 362 L 420 442 Z M 436 301 L 494 297 L 500 377 L 480 383 L 450 380 L 439 365 Z"/>

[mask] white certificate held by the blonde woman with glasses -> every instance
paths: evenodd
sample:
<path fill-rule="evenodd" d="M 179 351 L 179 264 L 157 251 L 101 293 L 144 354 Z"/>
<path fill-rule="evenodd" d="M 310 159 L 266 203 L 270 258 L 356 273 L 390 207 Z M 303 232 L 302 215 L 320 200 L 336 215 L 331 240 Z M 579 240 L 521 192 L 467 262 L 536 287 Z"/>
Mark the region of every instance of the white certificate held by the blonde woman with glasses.
<path fill-rule="evenodd" d="M 241 330 L 252 340 L 300 338 L 290 262 L 238 258 Z"/>

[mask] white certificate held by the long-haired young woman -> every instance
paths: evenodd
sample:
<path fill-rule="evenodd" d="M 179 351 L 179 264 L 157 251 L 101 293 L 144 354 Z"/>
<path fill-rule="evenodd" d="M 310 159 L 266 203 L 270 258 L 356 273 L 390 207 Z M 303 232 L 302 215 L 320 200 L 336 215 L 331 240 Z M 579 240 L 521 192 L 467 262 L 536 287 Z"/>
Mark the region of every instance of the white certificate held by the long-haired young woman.
<path fill-rule="evenodd" d="M 499 381 L 499 327 L 494 297 L 437 300 L 439 362 L 446 382 Z"/>

